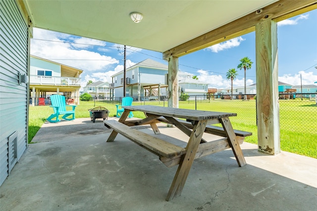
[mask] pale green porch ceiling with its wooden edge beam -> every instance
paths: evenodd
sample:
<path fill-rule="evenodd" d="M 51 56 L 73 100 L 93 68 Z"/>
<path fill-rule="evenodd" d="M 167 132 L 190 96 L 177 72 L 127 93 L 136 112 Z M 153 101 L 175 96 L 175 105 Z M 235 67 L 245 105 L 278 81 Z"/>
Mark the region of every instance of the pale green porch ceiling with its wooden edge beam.
<path fill-rule="evenodd" d="M 18 0 L 34 27 L 181 56 L 316 8 L 315 0 Z M 129 14 L 140 12 L 134 23 Z"/>

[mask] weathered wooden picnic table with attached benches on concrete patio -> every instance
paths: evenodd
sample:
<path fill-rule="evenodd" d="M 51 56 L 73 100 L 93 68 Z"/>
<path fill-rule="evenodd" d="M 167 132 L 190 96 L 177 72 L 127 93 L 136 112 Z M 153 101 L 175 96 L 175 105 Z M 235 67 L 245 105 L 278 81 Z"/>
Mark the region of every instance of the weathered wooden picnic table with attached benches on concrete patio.
<path fill-rule="evenodd" d="M 138 145 L 158 155 L 160 161 L 167 167 L 179 165 L 168 191 L 166 201 L 180 196 L 193 161 L 196 158 L 231 147 L 238 165 L 240 167 L 246 165 L 240 144 L 243 142 L 245 136 L 251 135 L 252 133 L 234 130 L 232 128 L 229 117 L 237 116 L 235 113 L 199 111 L 151 105 L 124 106 L 123 108 L 124 112 L 118 122 L 115 120 L 104 121 L 106 127 L 113 129 L 107 142 L 113 141 L 119 132 Z M 131 111 L 144 112 L 146 118 L 127 121 L 126 119 Z M 177 118 L 182 118 L 186 121 Z M 188 135 L 189 140 L 186 148 L 166 142 L 165 140 L 155 137 L 155 135 L 149 135 L 131 128 L 131 126 L 149 124 L 154 133 L 159 134 L 159 128 L 157 127 L 157 123 L 159 122 L 173 124 Z M 221 123 L 222 127 L 211 126 L 217 123 Z M 202 138 L 204 132 L 223 137 L 215 141 L 207 141 Z"/>

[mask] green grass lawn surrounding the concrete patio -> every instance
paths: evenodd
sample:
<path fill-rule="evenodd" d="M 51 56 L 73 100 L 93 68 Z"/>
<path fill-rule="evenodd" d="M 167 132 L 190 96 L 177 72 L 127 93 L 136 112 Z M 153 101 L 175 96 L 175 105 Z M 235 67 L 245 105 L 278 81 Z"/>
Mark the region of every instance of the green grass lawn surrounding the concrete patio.
<path fill-rule="evenodd" d="M 280 101 L 280 140 L 281 150 L 317 158 L 317 106 L 312 101 Z M 167 106 L 167 102 L 147 101 L 146 105 Z M 144 102 L 133 102 L 133 105 L 144 105 Z M 76 107 L 76 118 L 89 117 L 88 110 L 96 106 L 106 107 L 113 117 L 116 106 L 106 102 L 81 101 Z M 195 101 L 179 101 L 179 108 L 195 109 Z M 256 101 L 255 100 L 201 100 L 197 101 L 197 110 L 210 110 L 237 113 L 231 117 L 233 128 L 250 131 L 252 136 L 245 141 L 257 144 Z M 30 106 L 29 110 L 29 142 L 53 113 L 50 106 Z M 133 112 L 134 117 L 144 118 L 142 112 Z"/>

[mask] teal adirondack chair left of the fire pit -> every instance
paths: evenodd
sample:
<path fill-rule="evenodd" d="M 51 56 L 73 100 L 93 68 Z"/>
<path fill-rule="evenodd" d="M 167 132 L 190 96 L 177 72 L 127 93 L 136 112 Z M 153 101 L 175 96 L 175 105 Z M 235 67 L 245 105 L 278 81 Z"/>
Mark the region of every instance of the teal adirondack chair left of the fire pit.
<path fill-rule="evenodd" d="M 66 105 L 64 96 L 53 94 L 51 96 L 51 103 L 52 103 L 52 106 L 50 107 L 53 107 L 54 113 L 51 116 L 49 116 L 48 119 L 46 119 L 47 121 L 49 121 L 50 123 L 57 123 L 60 121 L 60 119 L 58 119 L 59 115 L 63 115 L 62 118 L 67 121 L 75 119 L 76 105 Z M 72 110 L 66 110 L 66 106 L 72 107 Z M 72 115 L 72 118 L 67 118 L 68 116 L 71 116 L 71 115 Z"/>

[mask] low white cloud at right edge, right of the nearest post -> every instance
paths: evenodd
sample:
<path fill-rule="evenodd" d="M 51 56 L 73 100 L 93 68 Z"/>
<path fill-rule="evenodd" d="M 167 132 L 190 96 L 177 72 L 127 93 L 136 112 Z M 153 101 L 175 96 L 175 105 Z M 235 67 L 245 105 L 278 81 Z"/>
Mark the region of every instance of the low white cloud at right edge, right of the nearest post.
<path fill-rule="evenodd" d="M 278 77 L 278 81 L 284 82 L 291 85 L 300 85 L 301 84 L 301 75 L 302 75 L 302 84 L 311 85 L 317 82 L 317 75 L 314 75 L 313 72 L 304 72 L 300 71 L 295 75 L 283 75 Z"/>

